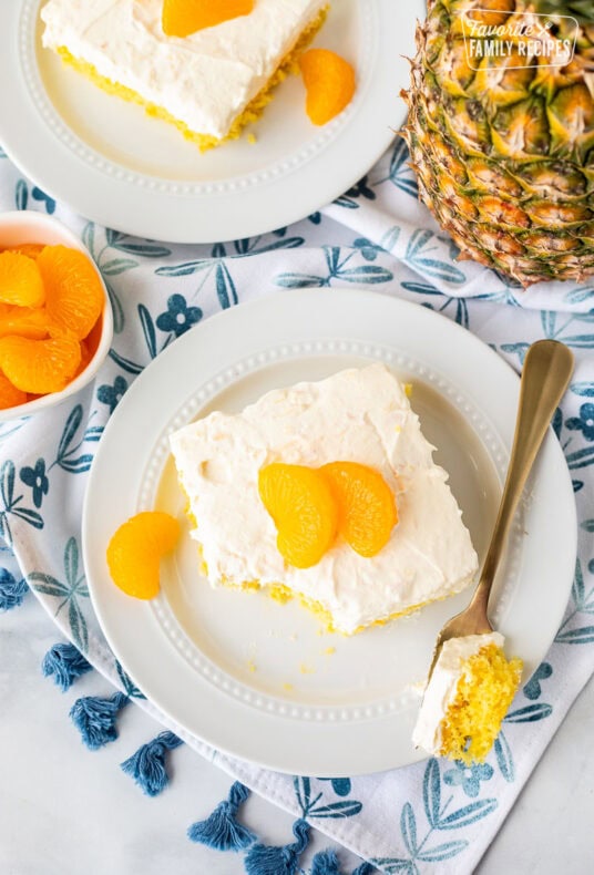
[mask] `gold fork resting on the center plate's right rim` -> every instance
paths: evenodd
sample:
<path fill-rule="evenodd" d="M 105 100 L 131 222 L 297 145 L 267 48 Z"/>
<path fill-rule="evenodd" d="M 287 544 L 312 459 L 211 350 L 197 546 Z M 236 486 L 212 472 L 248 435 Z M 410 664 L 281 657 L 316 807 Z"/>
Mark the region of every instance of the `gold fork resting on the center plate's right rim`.
<path fill-rule="evenodd" d="M 493 631 L 488 617 L 491 587 L 518 502 L 553 413 L 567 388 L 572 371 L 573 354 L 563 343 L 556 340 L 539 340 L 529 348 L 520 384 L 520 402 L 508 476 L 479 584 L 468 608 L 452 617 L 439 632 L 427 677 L 428 683 L 439 651 L 445 641 L 465 635 Z"/>

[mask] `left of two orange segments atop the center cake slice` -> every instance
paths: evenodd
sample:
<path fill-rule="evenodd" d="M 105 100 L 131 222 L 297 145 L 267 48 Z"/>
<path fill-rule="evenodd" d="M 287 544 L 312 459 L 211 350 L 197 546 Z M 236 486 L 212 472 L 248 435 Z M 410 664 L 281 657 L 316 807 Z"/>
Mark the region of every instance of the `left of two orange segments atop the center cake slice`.
<path fill-rule="evenodd" d="M 320 473 L 305 465 L 274 462 L 260 469 L 258 491 L 277 529 L 277 547 L 289 565 L 309 568 L 331 546 L 338 509 Z"/>

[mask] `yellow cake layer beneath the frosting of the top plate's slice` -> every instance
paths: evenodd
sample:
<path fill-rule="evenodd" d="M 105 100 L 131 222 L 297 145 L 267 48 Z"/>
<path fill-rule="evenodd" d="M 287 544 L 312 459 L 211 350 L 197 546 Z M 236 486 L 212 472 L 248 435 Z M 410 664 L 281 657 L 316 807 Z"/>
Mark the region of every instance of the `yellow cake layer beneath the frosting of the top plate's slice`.
<path fill-rule="evenodd" d="M 318 30 L 326 21 L 328 8 L 329 7 L 325 7 L 322 10 L 320 10 L 316 18 L 305 28 L 291 51 L 288 52 L 280 61 L 266 85 L 262 89 L 262 91 L 258 92 L 258 94 L 256 94 L 243 113 L 240 113 L 235 119 L 228 134 L 222 138 L 212 136 L 211 134 L 203 134 L 199 131 L 192 131 L 185 122 L 176 119 L 164 106 L 157 106 L 156 104 L 146 101 L 133 89 L 122 85 L 119 82 L 113 82 L 111 79 L 103 76 L 101 73 L 99 73 L 93 64 L 80 58 L 75 58 L 69 51 L 69 49 L 66 49 L 66 47 L 60 47 L 58 49 L 58 53 L 64 63 L 74 68 L 74 70 L 76 70 L 79 73 L 85 75 L 95 85 L 107 92 L 107 94 L 113 94 L 117 97 L 121 97 L 122 100 L 140 104 L 144 107 L 147 115 L 151 115 L 155 119 L 161 119 L 164 122 L 175 125 L 175 127 L 182 132 L 186 140 L 195 143 L 201 152 L 206 152 L 209 148 L 219 146 L 222 143 L 225 143 L 228 140 L 237 140 L 246 125 L 252 124 L 259 119 L 266 105 L 273 100 L 274 90 L 276 86 L 283 82 L 283 80 L 286 79 L 289 73 L 296 73 L 298 71 L 299 55 L 309 45 Z"/>

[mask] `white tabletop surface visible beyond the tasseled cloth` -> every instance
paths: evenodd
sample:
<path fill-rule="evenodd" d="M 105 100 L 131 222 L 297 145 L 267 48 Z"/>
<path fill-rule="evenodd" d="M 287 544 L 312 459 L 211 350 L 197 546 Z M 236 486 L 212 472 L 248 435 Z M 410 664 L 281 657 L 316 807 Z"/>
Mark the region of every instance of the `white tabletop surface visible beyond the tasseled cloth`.
<path fill-rule="evenodd" d="M 119 768 L 161 731 L 140 708 L 119 720 L 120 739 L 88 751 L 68 712 L 80 696 L 107 696 L 90 672 L 65 693 L 40 670 L 58 640 L 29 594 L 0 615 L 0 873 L 2 875 L 240 875 L 243 856 L 191 843 L 185 831 L 224 799 L 231 779 L 182 747 L 172 785 L 148 799 Z M 594 681 L 575 702 L 477 869 L 480 875 L 594 872 Z M 243 815 L 269 844 L 291 841 L 293 817 L 250 796 Z M 314 851 L 332 843 L 321 837 Z M 339 852 L 344 871 L 359 861 Z M 436 869 L 439 873 L 439 869 Z"/>

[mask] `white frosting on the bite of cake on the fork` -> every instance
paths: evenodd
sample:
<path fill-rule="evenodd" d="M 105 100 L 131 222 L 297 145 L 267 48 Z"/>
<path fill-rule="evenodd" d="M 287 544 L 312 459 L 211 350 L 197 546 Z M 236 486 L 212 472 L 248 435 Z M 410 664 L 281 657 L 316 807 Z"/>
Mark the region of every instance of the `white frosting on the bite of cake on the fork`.
<path fill-rule="evenodd" d="M 504 638 L 499 632 L 465 635 L 450 638 L 443 644 L 438 661 L 424 691 L 421 710 L 412 732 L 412 743 L 428 753 L 441 750 L 442 720 L 455 697 L 455 689 L 463 676 L 470 657 L 487 645 L 503 647 Z"/>

